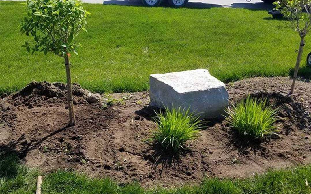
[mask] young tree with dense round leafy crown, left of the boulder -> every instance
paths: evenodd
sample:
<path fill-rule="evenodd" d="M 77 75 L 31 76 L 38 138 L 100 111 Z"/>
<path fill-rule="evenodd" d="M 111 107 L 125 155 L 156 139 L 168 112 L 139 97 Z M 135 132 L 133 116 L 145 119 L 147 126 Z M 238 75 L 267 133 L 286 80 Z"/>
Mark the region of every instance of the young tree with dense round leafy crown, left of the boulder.
<path fill-rule="evenodd" d="M 79 44 L 75 37 L 81 30 L 86 31 L 86 17 L 89 12 L 80 0 L 27 0 L 27 16 L 21 21 L 21 32 L 32 36 L 33 41 L 23 47 L 31 54 L 36 51 L 52 52 L 64 59 L 67 77 L 67 101 L 69 125 L 76 123 L 70 72 L 70 53 L 76 55 Z"/>

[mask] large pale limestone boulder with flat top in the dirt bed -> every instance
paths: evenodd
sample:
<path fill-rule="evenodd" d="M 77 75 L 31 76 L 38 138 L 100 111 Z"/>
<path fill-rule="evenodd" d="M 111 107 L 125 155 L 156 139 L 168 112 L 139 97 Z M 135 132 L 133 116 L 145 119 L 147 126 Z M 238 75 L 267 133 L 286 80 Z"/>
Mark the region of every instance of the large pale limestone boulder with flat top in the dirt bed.
<path fill-rule="evenodd" d="M 150 75 L 151 106 L 190 107 L 201 118 L 214 118 L 220 117 L 228 104 L 225 84 L 207 69 Z"/>

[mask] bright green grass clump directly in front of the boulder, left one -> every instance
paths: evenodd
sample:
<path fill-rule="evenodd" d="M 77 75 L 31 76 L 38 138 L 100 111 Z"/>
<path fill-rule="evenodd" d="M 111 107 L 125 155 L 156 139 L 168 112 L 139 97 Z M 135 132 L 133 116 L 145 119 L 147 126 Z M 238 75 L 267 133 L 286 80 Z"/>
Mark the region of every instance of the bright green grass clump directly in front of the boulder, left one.
<path fill-rule="evenodd" d="M 187 148 L 188 140 L 196 140 L 202 128 L 203 122 L 189 108 L 165 108 L 165 113 L 160 111 L 156 114 L 157 129 L 152 139 L 161 143 L 163 148 L 174 150 L 174 153 L 180 148 Z"/>

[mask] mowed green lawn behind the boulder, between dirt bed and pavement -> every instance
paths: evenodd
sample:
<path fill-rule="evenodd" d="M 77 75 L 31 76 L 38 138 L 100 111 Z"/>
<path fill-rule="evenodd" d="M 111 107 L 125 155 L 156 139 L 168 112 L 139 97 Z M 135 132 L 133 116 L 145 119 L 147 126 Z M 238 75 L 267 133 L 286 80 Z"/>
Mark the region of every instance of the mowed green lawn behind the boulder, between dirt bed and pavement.
<path fill-rule="evenodd" d="M 267 11 L 174 9 L 85 4 L 91 12 L 72 56 L 73 82 L 96 92 L 148 90 L 149 74 L 208 68 L 224 82 L 254 76 L 288 76 L 299 36 Z M 63 59 L 30 55 L 19 32 L 25 5 L 0 2 L 0 93 L 36 81 L 65 82 Z M 310 37 L 302 58 L 311 51 Z"/>

